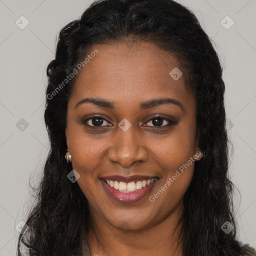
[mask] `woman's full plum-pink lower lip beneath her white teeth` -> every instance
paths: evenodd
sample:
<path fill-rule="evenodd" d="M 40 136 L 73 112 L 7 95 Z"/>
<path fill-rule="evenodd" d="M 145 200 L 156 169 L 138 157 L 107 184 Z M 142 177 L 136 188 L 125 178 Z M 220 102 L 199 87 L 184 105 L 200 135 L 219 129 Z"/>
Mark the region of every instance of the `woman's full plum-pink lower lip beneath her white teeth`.
<path fill-rule="evenodd" d="M 113 198 L 117 202 L 121 203 L 131 203 L 131 202 L 137 202 L 143 197 L 145 197 L 150 190 L 153 188 L 154 184 L 158 181 L 158 179 L 154 180 L 150 185 L 147 185 L 145 187 L 140 188 L 139 190 L 135 192 L 128 192 L 123 193 L 119 192 L 113 187 L 109 186 L 104 179 L 100 179 L 100 182 L 105 190 L 105 192 Z"/>

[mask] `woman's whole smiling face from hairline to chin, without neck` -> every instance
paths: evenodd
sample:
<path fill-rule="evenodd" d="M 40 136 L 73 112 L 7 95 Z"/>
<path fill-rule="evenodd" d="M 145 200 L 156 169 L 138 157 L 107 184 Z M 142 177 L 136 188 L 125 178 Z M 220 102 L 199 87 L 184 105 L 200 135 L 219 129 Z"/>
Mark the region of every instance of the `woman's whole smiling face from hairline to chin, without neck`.
<path fill-rule="evenodd" d="M 88 54 L 65 132 L 90 215 L 134 230 L 179 216 L 198 151 L 195 99 L 180 64 L 146 42 L 94 45 Z"/>

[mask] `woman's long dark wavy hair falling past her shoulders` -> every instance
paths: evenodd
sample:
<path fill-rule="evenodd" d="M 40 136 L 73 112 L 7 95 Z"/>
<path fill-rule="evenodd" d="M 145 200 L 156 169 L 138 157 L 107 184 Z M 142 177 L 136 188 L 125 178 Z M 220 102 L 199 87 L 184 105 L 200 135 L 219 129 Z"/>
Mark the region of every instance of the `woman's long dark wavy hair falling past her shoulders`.
<path fill-rule="evenodd" d="M 44 119 L 50 151 L 35 189 L 36 203 L 25 221 L 28 228 L 19 236 L 18 255 L 22 255 L 21 246 L 33 256 L 81 255 L 90 221 L 86 197 L 77 182 L 66 177 L 72 165 L 64 159 L 64 130 L 75 78 L 66 84 L 63 81 L 90 53 L 93 44 L 118 43 L 127 38 L 154 43 L 174 54 L 196 99 L 196 137 L 203 158 L 195 162 L 183 198 L 183 255 L 253 255 L 248 245 L 236 239 L 233 184 L 227 172 L 222 68 L 195 15 L 173 0 L 98 0 L 61 29 L 55 59 L 47 66 Z M 226 221 L 233 226 L 228 234 L 221 228 Z"/>

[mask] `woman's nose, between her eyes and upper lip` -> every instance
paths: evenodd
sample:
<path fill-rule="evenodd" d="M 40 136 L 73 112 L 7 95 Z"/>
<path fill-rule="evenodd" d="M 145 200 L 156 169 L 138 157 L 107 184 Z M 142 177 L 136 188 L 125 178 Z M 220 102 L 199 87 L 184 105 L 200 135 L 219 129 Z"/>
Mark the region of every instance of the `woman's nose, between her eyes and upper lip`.
<path fill-rule="evenodd" d="M 135 161 L 146 161 L 147 150 L 145 144 L 138 138 L 131 127 L 123 131 L 117 127 L 117 134 L 113 136 L 108 150 L 108 159 L 129 167 Z"/>

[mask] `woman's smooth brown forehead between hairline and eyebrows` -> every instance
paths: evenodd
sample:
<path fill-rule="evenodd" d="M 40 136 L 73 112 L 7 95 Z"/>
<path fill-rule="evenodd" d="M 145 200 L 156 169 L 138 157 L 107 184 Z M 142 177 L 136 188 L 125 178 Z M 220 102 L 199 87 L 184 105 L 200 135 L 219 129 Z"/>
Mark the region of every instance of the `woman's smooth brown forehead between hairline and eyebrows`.
<path fill-rule="evenodd" d="M 184 75 L 178 79 L 171 76 L 173 72 L 181 74 L 179 61 L 156 45 L 148 42 L 95 44 L 87 56 L 95 49 L 98 53 L 92 54 L 77 74 L 71 93 L 76 101 L 92 96 L 127 105 L 134 104 L 132 99 L 143 101 L 171 96 L 186 101 L 191 97 Z"/>

